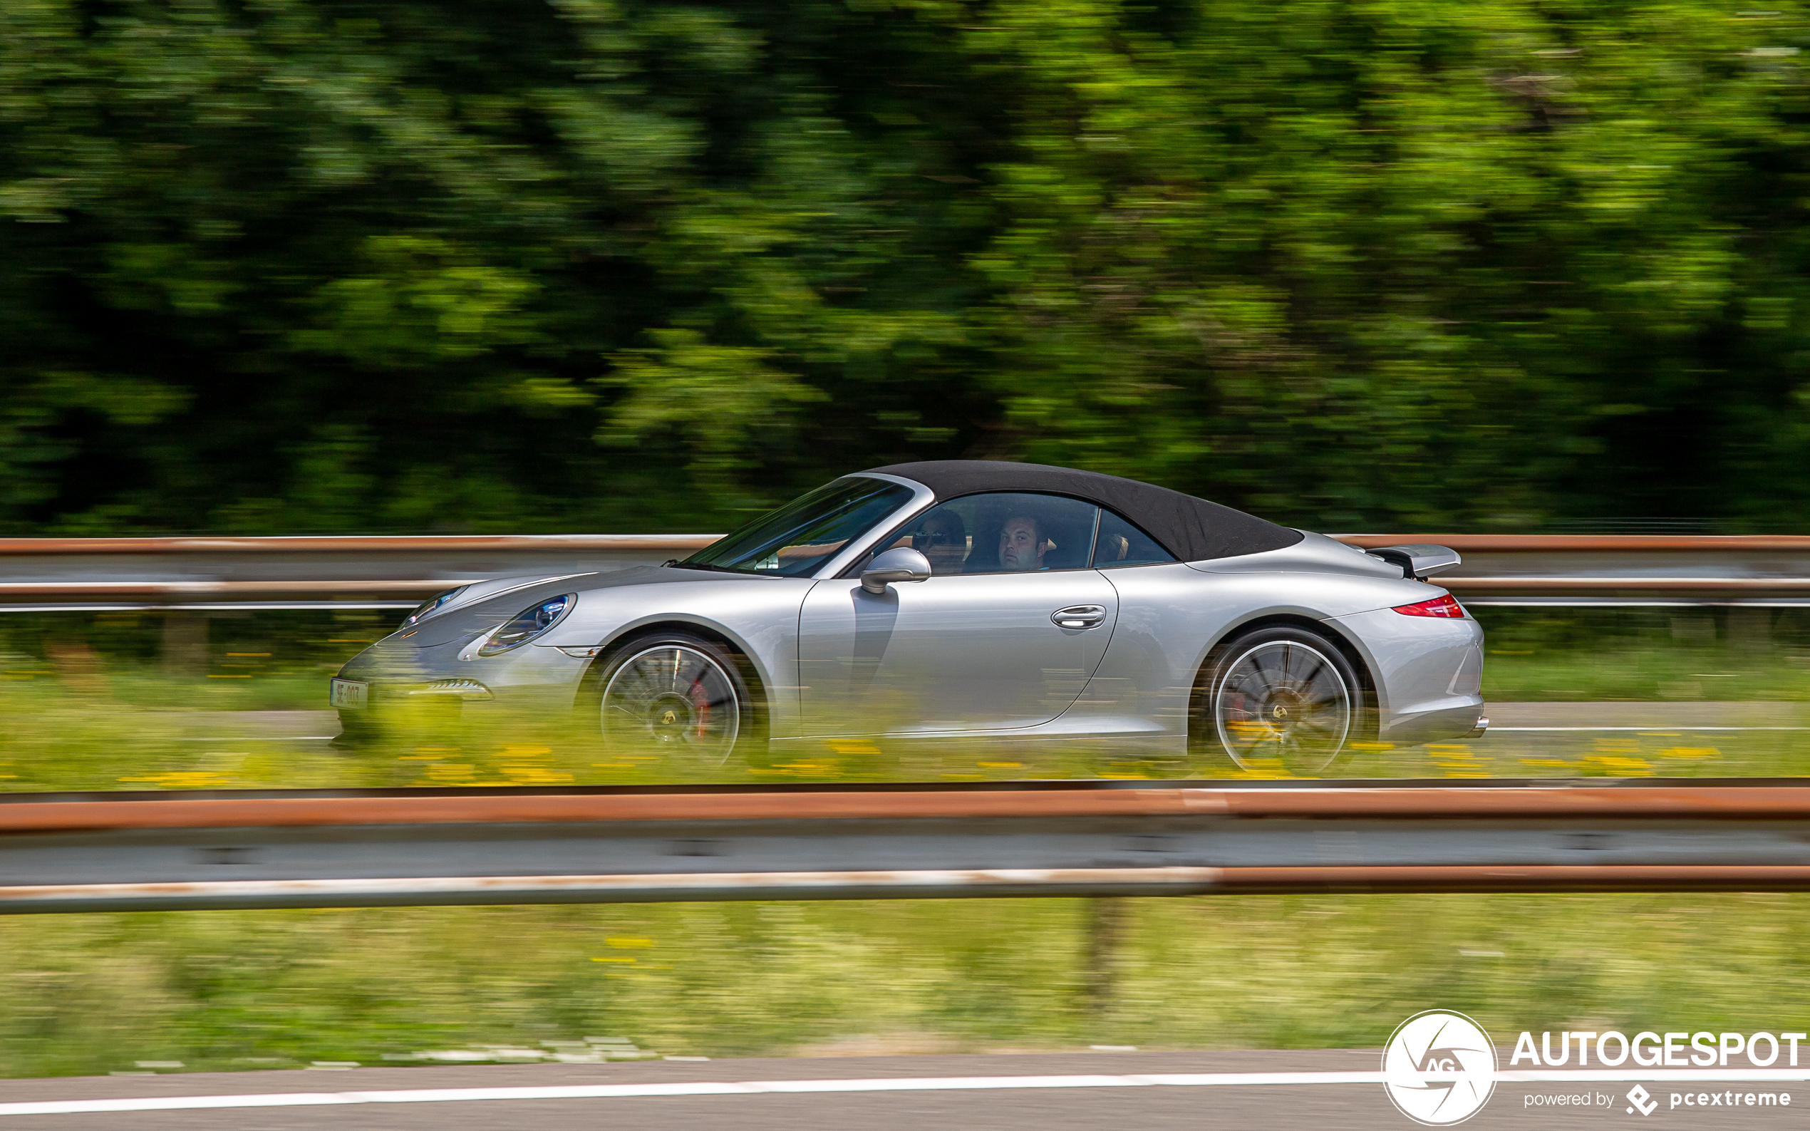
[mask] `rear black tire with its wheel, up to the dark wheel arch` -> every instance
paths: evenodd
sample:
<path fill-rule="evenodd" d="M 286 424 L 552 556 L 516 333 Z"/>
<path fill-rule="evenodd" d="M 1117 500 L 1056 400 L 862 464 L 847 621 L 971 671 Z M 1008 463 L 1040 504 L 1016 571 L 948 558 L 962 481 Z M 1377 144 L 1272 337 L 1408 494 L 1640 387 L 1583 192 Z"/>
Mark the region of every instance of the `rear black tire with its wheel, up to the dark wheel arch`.
<path fill-rule="evenodd" d="M 1361 742 L 1363 680 L 1345 651 L 1276 624 L 1213 650 L 1195 680 L 1189 747 L 1253 773 L 1316 775 Z"/>

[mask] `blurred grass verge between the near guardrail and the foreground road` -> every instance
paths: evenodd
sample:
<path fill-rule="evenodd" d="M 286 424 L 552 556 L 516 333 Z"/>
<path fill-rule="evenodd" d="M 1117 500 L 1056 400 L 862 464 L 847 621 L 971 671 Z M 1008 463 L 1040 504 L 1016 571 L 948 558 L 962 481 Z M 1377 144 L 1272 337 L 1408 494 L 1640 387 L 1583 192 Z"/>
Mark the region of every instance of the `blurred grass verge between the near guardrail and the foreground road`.
<path fill-rule="evenodd" d="M 1099 1001 L 1079 899 L 20 916 L 0 919 L 0 1075 L 523 1059 L 586 1037 L 704 1057 L 1376 1048 L 1435 1006 L 1499 1042 L 1810 1019 L 1810 896 L 1122 907 Z"/>

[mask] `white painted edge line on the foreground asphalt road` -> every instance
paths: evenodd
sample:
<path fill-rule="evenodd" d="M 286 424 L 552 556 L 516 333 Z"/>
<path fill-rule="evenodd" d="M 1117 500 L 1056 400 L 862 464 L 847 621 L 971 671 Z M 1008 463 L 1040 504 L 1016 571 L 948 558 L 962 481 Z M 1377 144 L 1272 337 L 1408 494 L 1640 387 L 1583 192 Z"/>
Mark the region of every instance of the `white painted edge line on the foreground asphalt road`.
<path fill-rule="evenodd" d="M 1680 1068 L 1499 1071 L 1499 1084 L 1604 1082 L 1790 1082 L 1810 1068 Z M 40 1100 L 0 1104 L 5 1115 L 96 1115 L 109 1111 L 194 1111 L 206 1107 L 315 1107 L 324 1104 L 458 1104 L 471 1100 L 614 1100 L 650 1097 L 977 1091 L 1006 1088 L 1298 1088 L 1303 1084 L 1381 1084 L 1381 1071 L 1215 1071 L 1073 1077 L 883 1077 L 867 1080 L 704 1080 L 697 1084 L 574 1084 L 561 1088 L 411 1088 L 396 1091 L 281 1091 L 266 1095 L 186 1095 L 129 1100 Z"/>

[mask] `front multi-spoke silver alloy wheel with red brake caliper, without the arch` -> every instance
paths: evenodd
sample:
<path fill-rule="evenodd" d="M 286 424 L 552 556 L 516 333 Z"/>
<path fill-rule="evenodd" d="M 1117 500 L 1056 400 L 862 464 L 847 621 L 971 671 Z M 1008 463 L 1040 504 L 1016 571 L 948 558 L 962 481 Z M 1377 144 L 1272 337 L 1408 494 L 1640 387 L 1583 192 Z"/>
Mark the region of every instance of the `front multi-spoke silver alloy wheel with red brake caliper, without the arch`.
<path fill-rule="evenodd" d="M 614 749 L 646 749 L 722 765 L 742 729 L 735 680 L 717 657 L 657 644 L 624 659 L 603 688 L 603 737 Z"/>

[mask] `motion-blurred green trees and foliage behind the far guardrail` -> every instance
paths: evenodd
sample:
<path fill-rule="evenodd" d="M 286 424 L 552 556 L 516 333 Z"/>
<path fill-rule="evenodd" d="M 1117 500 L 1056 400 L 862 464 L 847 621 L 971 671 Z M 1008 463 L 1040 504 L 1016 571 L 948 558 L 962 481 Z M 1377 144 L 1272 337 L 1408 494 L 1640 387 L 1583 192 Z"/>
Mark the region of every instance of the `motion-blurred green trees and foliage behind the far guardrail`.
<path fill-rule="evenodd" d="M 1810 13 L 11 0 L 0 528 L 1810 518 Z"/>

